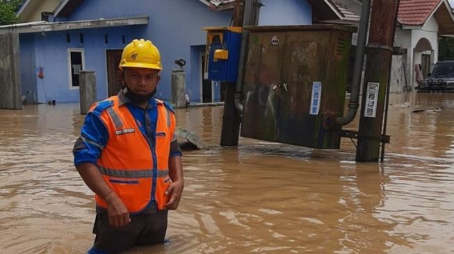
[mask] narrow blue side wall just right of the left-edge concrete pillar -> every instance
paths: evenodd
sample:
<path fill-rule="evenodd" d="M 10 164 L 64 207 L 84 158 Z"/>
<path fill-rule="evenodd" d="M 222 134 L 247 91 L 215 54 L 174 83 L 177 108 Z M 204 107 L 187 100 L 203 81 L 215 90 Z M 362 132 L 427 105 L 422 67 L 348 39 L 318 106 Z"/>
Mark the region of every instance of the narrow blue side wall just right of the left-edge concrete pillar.
<path fill-rule="evenodd" d="M 20 68 L 22 80 L 22 95 L 26 95 L 31 91 L 37 94 L 35 70 L 35 39 L 33 34 L 19 35 L 19 52 L 20 52 Z"/>

